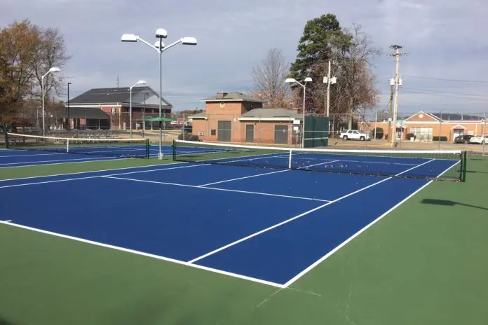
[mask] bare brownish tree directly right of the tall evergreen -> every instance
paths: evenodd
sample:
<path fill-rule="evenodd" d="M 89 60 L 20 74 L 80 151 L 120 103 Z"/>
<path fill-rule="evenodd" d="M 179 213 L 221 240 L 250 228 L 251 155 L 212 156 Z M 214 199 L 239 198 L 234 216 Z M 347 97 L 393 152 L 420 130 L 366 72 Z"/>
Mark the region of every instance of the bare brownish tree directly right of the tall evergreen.
<path fill-rule="evenodd" d="M 334 87 L 332 98 L 334 112 L 351 114 L 348 118 L 348 127 L 351 128 L 354 111 L 371 109 L 377 104 L 376 76 L 372 67 L 374 58 L 381 54 L 381 50 L 372 46 L 370 36 L 362 32 L 358 25 L 353 25 L 346 33 L 351 40 L 334 46 L 337 61 L 335 74 L 339 82 Z"/>

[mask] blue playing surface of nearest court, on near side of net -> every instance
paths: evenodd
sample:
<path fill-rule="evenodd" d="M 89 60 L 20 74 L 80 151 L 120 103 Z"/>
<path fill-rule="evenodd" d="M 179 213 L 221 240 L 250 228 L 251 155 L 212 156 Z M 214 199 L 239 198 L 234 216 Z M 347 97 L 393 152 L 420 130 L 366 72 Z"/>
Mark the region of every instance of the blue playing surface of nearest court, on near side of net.
<path fill-rule="evenodd" d="M 395 168 L 426 174 L 456 163 Z M 286 287 L 426 184 L 175 163 L 0 181 L 9 202 L 0 215 L 11 226 Z"/>

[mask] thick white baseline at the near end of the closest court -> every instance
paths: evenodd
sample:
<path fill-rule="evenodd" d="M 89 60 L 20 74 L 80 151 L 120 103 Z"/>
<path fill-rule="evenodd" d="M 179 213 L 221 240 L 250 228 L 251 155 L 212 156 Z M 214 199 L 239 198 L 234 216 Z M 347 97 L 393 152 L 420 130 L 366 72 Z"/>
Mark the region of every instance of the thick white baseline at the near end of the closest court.
<path fill-rule="evenodd" d="M 48 230 L 42 230 L 42 229 L 38 229 L 38 228 L 32 228 L 32 227 L 29 227 L 29 226 L 22 226 L 22 225 L 19 225 L 17 223 L 11 223 L 11 222 L 6 222 L 6 221 L 0 221 L 0 223 L 3 223 L 3 224 L 8 225 L 8 226 L 17 227 L 17 228 L 32 230 L 32 231 L 35 231 L 36 233 L 43 233 L 43 234 L 46 234 L 46 235 L 53 235 L 55 237 L 62 237 L 62 238 L 66 238 L 66 239 L 69 239 L 69 240 L 76 240 L 76 242 L 84 242 L 86 244 L 92 244 L 92 245 L 95 245 L 95 246 L 105 247 L 105 248 L 109 248 L 109 249 L 116 249 L 117 251 L 125 251 L 125 252 L 131 253 L 131 254 L 137 254 L 137 255 L 141 255 L 141 256 L 156 258 L 156 259 L 162 260 L 162 261 L 167 261 L 167 262 L 171 262 L 171 263 L 177 263 L 177 264 L 180 264 L 180 265 L 190 266 L 191 268 L 198 268 L 200 270 L 205 270 L 205 271 L 219 273 L 221 275 L 228 275 L 230 277 L 237 277 L 239 279 L 245 279 L 245 280 L 252 281 L 252 282 L 257 282 L 257 283 L 260 283 L 260 284 L 267 284 L 269 286 L 276 286 L 278 288 L 284 288 L 283 287 L 283 284 L 279 284 L 279 283 L 275 283 L 275 282 L 269 282 L 269 281 L 262 280 L 262 279 L 256 279 L 255 277 L 246 277 L 245 275 L 238 275 L 236 273 L 227 272 L 227 271 L 223 271 L 223 270 L 217 270 L 215 268 L 208 268 L 207 266 L 190 264 L 190 263 L 187 263 L 187 262 L 184 262 L 184 261 L 176 260 L 174 258 L 168 258 L 168 257 L 159 256 L 159 255 L 155 255 L 155 254 L 144 253 L 143 251 L 136 251 L 135 249 L 128 249 L 128 248 L 118 247 L 118 246 L 114 246 L 114 245 L 110 245 L 110 244 L 104 244 L 102 242 L 95 242 L 93 240 L 85 240 L 85 239 L 79 238 L 79 237 L 74 237 L 74 236 L 69 236 L 69 235 L 62 235 L 60 233 L 53 233 L 52 231 L 48 231 Z"/>

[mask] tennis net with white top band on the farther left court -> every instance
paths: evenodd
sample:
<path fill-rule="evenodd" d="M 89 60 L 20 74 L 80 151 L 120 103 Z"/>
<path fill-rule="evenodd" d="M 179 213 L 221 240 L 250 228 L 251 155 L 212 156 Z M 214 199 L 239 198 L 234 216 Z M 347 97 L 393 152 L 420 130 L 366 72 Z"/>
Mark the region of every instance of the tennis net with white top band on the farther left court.
<path fill-rule="evenodd" d="M 6 133 L 5 144 L 9 149 L 149 158 L 149 139 L 63 138 Z"/>

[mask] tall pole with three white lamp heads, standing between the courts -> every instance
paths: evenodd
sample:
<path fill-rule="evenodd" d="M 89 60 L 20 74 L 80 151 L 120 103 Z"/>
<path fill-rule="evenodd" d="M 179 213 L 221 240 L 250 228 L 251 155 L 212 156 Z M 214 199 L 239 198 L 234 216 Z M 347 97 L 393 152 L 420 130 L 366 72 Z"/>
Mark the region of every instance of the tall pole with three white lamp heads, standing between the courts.
<path fill-rule="evenodd" d="M 196 39 L 194 37 L 183 37 L 182 39 L 179 39 L 173 43 L 171 43 L 168 46 L 165 46 L 163 43 L 163 39 L 168 37 L 168 32 L 166 32 L 165 29 L 159 28 L 156 29 L 156 43 L 151 45 L 151 43 L 144 41 L 144 39 L 141 39 L 139 36 L 135 34 L 123 34 L 121 37 L 121 41 L 123 42 L 137 42 L 137 41 L 142 41 L 142 43 L 146 44 L 150 48 L 154 48 L 158 52 L 159 55 L 159 118 L 162 116 L 162 99 L 161 99 L 161 93 L 163 92 L 163 71 L 161 67 L 161 55 L 163 54 L 163 51 L 168 50 L 168 48 L 172 48 L 178 43 L 182 43 L 183 45 L 196 45 Z M 158 154 L 158 159 L 161 160 L 163 159 L 163 129 L 161 128 L 161 121 L 159 125 L 159 154 Z"/>

